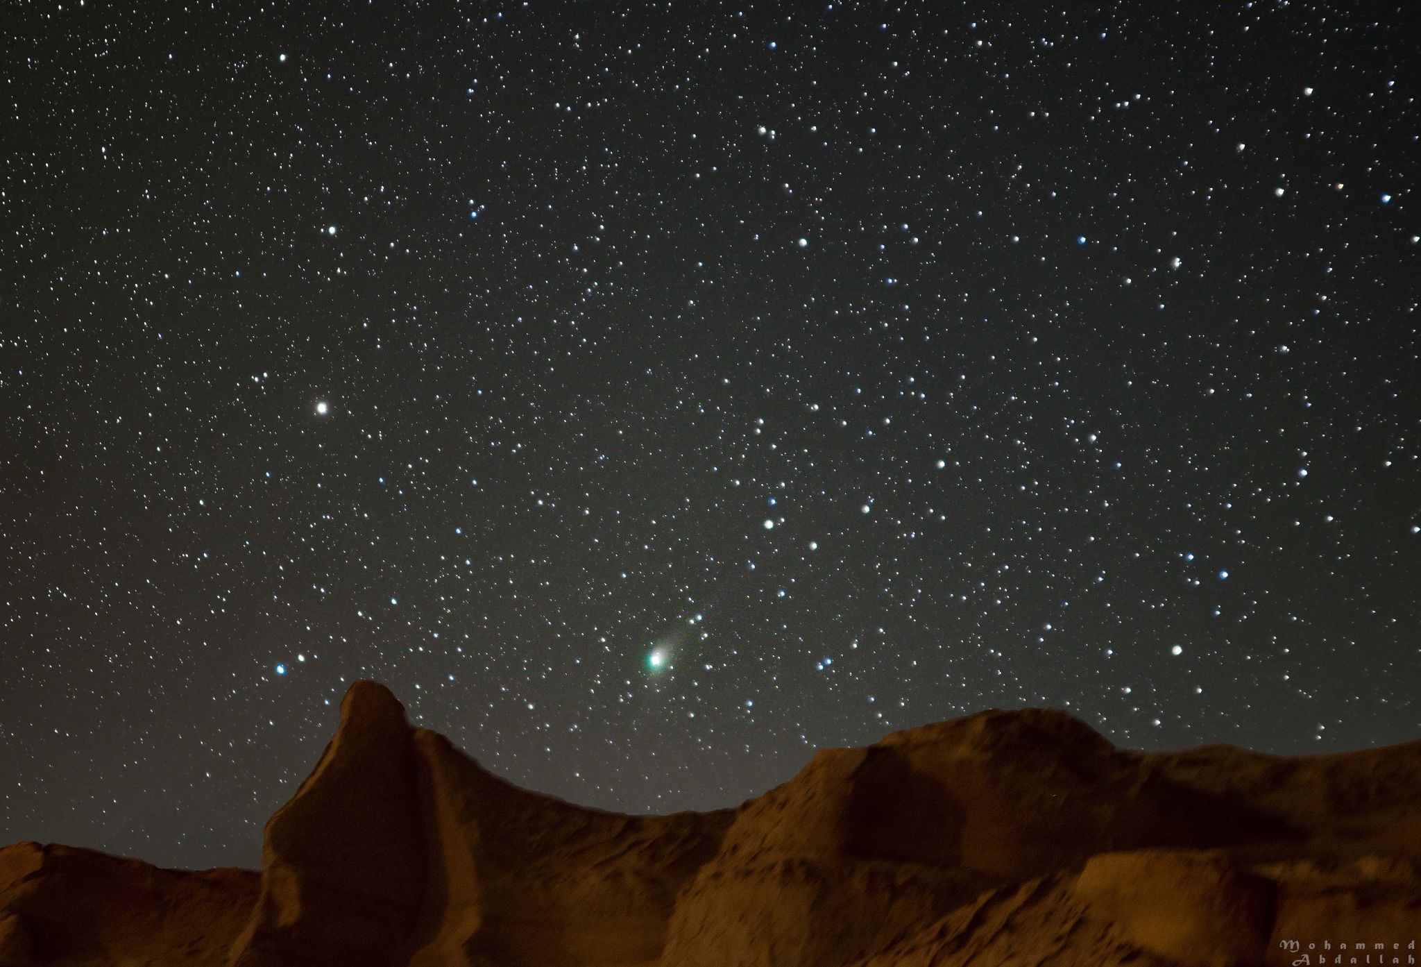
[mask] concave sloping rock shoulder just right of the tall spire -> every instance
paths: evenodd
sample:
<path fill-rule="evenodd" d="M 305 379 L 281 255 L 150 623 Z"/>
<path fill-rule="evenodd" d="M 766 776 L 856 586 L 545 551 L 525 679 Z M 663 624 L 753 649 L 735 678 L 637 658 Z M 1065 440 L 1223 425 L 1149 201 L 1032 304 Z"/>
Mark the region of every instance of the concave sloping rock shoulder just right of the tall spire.
<path fill-rule="evenodd" d="M 497 779 L 442 735 L 419 732 L 416 745 L 441 885 L 423 917 L 421 964 L 654 961 L 676 894 L 730 821 L 729 811 L 584 809 Z"/>

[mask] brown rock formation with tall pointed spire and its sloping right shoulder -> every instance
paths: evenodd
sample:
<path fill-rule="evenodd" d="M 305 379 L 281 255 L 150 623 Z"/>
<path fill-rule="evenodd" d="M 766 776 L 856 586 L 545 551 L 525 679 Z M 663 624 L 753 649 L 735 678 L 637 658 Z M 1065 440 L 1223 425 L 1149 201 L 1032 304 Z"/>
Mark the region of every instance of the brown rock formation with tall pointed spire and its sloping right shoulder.
<path fill-rule="evenodd" d="M 647 963 L 729 816 L 621 816 L 526 792 L 360 683 L 267 823 L 261 896 L 230 963 Z"/>

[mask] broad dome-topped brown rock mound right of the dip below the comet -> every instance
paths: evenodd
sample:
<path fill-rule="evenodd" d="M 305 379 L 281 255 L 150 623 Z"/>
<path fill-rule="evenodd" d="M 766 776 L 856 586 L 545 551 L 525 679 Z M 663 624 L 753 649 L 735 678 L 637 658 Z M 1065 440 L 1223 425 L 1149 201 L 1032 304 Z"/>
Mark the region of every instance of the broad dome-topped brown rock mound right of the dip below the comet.
<path fill-rule="evenodd" d="M 848 963 L 1097 853 L 1275 839 L 1296 833 L 1174 782 L 1064 712 L 980 712 L 821 752 L 746 803 L 678 902 L 664 963 L 710 967 L 725 951 L 737 964 Z M 1110 869 L 1127 892 L 1140 886 Z"/>

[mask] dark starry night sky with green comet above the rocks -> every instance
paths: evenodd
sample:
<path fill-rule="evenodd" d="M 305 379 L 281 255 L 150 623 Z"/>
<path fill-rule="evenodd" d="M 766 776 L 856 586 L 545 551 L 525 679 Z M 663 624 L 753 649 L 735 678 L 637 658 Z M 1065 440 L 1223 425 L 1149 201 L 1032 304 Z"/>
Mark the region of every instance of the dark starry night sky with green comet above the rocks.
<path fill-rule="evenodd" d="M 10 10 L 0 842 L 1421 734 L 1414 10 L 1026 6 Z"/>

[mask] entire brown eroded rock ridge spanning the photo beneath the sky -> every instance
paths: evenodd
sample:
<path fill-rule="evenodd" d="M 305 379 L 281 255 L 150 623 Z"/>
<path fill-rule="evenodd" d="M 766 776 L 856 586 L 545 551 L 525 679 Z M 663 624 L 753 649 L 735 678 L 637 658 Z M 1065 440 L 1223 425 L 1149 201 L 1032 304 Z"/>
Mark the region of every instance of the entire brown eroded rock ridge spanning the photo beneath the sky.
<path fill-rule="evenodd" d="M 1421 742 L 1140 754 L 992 710 L 820 752 L 735 811 L 622 816 L 503 782 L 357 683 L 260 876 L 0 849 L 0 967 L 1282 964 L 1421 940 L 1418 792 Z"/>

